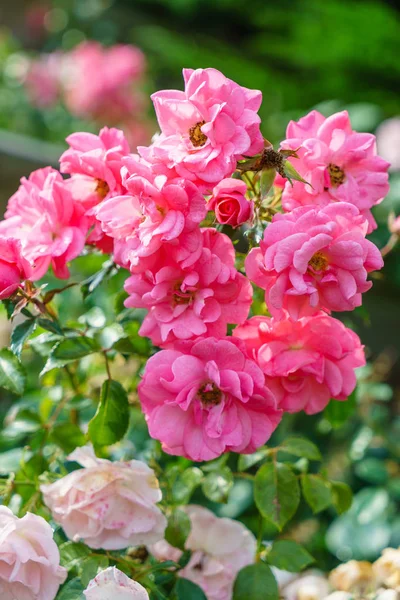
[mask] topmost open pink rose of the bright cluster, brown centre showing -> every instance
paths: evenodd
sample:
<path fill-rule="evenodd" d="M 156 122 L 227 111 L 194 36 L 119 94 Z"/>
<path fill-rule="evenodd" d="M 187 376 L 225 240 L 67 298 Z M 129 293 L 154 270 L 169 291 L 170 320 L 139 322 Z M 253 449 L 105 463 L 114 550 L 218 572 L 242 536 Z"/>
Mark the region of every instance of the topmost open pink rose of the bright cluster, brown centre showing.
<path fill-rule="evenodd" d="M 216 69 L 184 69 L 185 91 L 152 95 L 161 135 L 139 148 L 149 162 L 206 189 L 232 175 L 243 155 L 261 152 L 261 92 L 249 90 Z"/>

